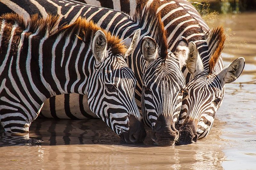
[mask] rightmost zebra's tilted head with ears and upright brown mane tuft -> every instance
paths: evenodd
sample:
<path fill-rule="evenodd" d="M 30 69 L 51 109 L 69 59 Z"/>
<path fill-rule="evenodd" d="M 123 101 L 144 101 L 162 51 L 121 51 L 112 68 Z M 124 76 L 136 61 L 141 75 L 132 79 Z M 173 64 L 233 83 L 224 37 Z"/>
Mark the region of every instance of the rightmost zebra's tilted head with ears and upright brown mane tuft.
<path fill-rule="evenodd" d="M 244 58 L 237 58 L 223 69 L 219 60 L 224 47 L 225 35 L 222 27 L 214 29 L 207 37 L 209 56 L 203 65 L 195 43 L 189 43 L 187 60 L 192 80 L 183 93 L 179 120 L 179 144 L 189 144 L 205 137 L 210 132 L 215 113 L 222 104 L 225 84 L 235 81 L 244 69 Z"/>

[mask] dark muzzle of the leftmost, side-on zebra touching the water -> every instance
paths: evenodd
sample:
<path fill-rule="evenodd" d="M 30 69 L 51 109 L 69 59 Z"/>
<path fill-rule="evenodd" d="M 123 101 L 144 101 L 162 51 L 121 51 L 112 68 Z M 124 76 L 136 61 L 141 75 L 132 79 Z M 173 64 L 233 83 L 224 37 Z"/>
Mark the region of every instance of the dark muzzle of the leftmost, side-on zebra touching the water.
<path fill-rule="evenodd" d="M 135 116 L 129 115 L 129 125 L 129 130 L 122 131 L 119 135 L 121 143 L 142 143 L 147 135 L 142 122 Z"/>

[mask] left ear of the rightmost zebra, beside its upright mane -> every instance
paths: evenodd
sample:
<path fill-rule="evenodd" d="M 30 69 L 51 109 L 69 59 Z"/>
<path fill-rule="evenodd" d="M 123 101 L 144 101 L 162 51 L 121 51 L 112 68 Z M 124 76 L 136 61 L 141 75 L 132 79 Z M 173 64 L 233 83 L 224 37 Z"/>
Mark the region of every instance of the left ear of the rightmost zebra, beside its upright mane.
<path fill-rule="evenodd" d="M 198 55 L 196 44 L 194 42 L 190 42 L 188 44 L 188 59 L 186 61 L 186 66 L 188 68 L 188 72 L 192 74 L 194 77 L 196 74 L 204 71 L 204 66 L 200 56 Z"/>

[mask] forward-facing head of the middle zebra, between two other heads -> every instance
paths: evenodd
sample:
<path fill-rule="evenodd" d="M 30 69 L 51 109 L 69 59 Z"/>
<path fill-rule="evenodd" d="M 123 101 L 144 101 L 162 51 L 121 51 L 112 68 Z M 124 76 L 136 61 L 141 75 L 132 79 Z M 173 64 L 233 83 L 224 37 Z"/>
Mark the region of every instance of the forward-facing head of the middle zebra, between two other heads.
<path fill-rule="evenodd" d="M 154 39 L 142 39 L 141 53 L 147 68 L 142 77 L 141 106 L 143 120 L 153 131 L 152 140 L 157 145 L 173 145 L 179 138 L 175 123 L 185 88 L 181 68 L 188 56 L 188 41 L 181 37 L 173 53 L 163 51 Z"/>

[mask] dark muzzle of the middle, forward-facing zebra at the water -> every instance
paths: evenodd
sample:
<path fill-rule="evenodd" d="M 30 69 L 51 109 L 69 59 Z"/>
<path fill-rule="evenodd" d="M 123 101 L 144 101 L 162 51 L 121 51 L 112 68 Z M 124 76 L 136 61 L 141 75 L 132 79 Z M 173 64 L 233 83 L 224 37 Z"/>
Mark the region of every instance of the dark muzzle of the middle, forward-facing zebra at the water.
<path fill-rule="evenodd" d="M 172 146 L 179 138 L 179 131 L 175 128 L 173 120 L 163 115 L 157 118 L 151 139 L 159 146 Z"/>

